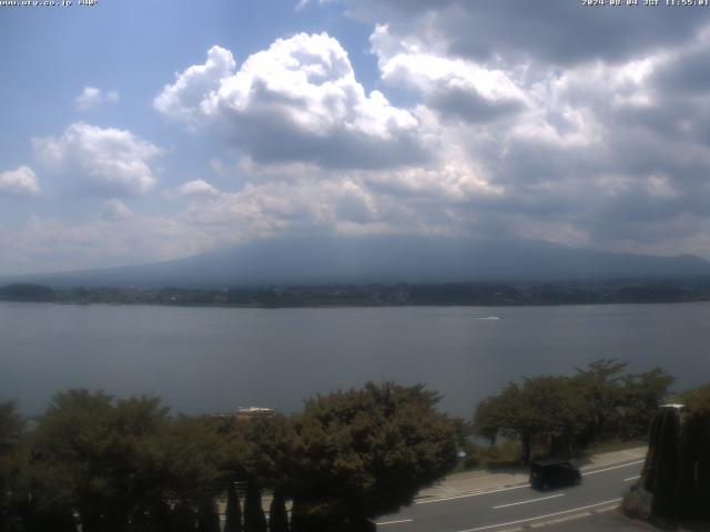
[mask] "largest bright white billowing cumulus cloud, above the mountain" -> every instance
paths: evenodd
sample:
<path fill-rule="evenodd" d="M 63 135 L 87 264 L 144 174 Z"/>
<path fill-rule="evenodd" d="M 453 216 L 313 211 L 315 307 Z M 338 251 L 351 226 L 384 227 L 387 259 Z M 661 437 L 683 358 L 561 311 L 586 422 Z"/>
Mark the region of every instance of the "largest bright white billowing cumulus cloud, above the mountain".
<path fill-rule="evenodd" d="M 220 47 L 166 85 L 154 108 L 189 126 L 213 125 L 260 164 L 387 167 L 428 155 L 418 120 L 366 93 L 347 52 L 326 33 L 276 40 L 235 70 Z"/>

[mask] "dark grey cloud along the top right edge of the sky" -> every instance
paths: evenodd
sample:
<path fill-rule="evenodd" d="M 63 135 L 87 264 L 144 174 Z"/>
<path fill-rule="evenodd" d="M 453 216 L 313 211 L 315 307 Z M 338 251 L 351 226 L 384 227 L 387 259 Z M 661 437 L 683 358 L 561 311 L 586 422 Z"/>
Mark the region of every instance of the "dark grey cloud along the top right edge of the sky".
<path fill-rule="evenodd" d="M 372 0 L 351 2 L 351 11 L 371 22 L 389 23 L 398 34 L 439 39 L 455 55 L 489 61 L 501 53 L 560 65 L 597 59 L 620 62 L 677 47 L 706 22 L 697 8 L 651 8 L 642 0 L 636 7 L 608 3 Z"/>

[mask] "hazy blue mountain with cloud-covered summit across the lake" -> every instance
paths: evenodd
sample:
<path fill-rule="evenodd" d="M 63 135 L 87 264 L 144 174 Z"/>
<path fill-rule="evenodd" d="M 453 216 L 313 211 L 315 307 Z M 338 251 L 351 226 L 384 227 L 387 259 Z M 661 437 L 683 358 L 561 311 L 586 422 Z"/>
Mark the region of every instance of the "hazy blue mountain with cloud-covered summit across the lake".
<path fill-rule="evenodd" d="M 272 238 L 175 260 L 12 276 L 0 283 L 216 288 L 686 276 L 710 276 L 710 263 L 693 255 L 606 253 L 541 241 L 369 236 Z"/>

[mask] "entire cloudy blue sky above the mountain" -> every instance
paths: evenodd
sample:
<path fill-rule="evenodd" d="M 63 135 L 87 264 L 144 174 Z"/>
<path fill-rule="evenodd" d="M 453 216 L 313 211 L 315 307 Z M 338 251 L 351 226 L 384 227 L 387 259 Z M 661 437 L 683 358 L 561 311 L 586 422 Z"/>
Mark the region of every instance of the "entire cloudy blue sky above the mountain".
<path fill-rule="evenodd" d="M 710 6 L 44 3 L 0 1 L 0 274 L 303 235 L 710 258 Z"/>

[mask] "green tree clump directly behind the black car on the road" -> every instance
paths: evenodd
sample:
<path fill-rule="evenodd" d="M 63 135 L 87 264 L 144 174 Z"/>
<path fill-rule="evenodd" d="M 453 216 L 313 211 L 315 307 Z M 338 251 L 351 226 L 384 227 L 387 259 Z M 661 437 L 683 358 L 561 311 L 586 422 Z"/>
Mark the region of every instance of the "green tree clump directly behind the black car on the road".
<path fill-rule="evenodd" d="M 646 436 L 673 378 L 660 368 L 622 375 L 627 362 L 596 360 L 572 377 L 539 376 L 509 382 L 481 401 L 474 432 L 495 442 L 519 439 L 527 462 L 534 444 L 549 454 L 569 454 L 595 440 Z"/>

